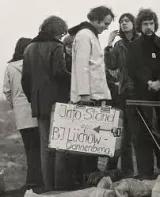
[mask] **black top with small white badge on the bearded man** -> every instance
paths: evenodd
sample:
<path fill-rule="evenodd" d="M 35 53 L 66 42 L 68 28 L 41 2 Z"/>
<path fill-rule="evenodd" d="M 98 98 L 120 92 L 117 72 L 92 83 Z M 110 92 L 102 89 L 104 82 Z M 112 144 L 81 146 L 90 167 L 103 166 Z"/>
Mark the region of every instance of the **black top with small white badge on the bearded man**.
<path fill-rule="evenodd" d="M 149 80 L 160 80 L 160 38 L 142 35 L 129 49 L 127 60 L 129 75 L 133 79 L 136 98 L 155 100 L 159 92 L 149 91 Z"/>

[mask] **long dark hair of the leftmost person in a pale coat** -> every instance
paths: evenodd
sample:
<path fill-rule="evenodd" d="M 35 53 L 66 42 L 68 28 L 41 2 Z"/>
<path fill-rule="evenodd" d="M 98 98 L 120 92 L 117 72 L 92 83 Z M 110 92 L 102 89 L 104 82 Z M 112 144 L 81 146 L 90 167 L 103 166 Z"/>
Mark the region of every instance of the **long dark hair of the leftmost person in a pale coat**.
<path fill-rule="evenodd" d="M 30 44 L 30 42 L 30 38 L 20 38 L 16 43 L 13 57 L 9 62 L 14 62 L 23 59 L 24 50 Z"/>

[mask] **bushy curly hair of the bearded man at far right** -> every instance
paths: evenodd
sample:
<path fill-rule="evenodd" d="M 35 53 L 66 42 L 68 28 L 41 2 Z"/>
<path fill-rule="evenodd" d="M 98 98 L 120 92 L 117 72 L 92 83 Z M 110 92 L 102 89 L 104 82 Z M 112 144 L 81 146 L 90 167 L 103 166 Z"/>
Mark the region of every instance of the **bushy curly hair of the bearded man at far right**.
<path fill-rule="evenodd" d="M 155 12 L 151 9 L 141 9 L 136 18 L 136 30 L 138 32 L 142 31 L 142 22 L 146 20 L 154 20 L 155 32 L 158 29 L 158 17 Z"/>

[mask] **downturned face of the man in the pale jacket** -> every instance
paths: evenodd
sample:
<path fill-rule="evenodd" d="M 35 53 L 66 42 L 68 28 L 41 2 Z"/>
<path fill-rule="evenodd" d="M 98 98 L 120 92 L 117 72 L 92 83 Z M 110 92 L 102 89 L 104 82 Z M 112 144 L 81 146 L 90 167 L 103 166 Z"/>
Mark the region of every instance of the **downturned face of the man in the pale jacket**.
<path fill-rule="evenodd" d="M 94 26 L 98 33 L 101 34 L 104 30 L 108 29 L 113 18 L 111 15 L 107 15 L 102 21 L 94 21 Z"/>

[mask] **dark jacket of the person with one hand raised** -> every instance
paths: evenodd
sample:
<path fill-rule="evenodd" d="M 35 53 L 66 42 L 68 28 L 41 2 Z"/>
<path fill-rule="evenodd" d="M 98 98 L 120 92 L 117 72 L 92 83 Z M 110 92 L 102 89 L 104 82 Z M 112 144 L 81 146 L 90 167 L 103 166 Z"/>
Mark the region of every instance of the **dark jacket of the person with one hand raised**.
<path fill-rule="evenodd" d="M 135 37 L 136 39 L 136 37 Z M 133 89 L 133 83 L 128 76 L 126 59 L 128 54 L 129 41 L 121 39 L 117 41 L 114 47 L 105 48 L 106 76 L 109 85 L 119 82 L 118 94 L 126 94 L 128 90 Z"/>

